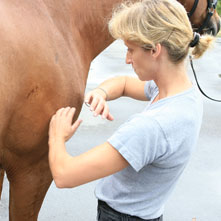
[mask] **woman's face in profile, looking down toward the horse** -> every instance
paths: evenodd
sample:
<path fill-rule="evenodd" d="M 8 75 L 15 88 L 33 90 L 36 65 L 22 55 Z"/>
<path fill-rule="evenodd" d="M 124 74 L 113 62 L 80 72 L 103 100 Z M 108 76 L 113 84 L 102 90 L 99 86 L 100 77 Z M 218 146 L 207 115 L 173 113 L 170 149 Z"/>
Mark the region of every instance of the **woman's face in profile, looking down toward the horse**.
<path fill-rule="evenodd" d="M 126 64 L 131 64 L 137 76 L 142 81 L 153 80 L 153 63 L 151 50 L 125 41 L 127 46 Z"/>

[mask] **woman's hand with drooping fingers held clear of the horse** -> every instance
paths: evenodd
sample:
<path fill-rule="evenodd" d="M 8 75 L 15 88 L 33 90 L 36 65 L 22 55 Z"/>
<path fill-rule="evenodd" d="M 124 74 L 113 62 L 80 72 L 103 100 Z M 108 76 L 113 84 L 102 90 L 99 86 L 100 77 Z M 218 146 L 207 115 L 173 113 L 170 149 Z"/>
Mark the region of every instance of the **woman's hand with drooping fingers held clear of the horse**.
<path fill-rule="evenodd" d="M 109 107 L 106 102 L 107 93 L 100 88 L 96 88 L 85 96 L 86 105 L 90 106 L 90 110 L 94 112 L 94 116 L 101 115 L 102 118 L 113 120 L 114 117 L 109 112 Z"/>

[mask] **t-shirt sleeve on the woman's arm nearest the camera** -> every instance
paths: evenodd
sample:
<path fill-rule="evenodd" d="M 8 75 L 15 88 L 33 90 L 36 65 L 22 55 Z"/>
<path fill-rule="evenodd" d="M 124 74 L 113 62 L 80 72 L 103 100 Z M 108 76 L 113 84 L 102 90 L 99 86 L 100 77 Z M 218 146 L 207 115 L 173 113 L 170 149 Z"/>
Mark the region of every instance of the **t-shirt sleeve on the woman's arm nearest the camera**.
<path fill-rule="evenodd" d="M 158 122 L 145 114 L 138 114 L 129 119 L 108 142 L 137 172 L 163 155 L 167 145 Z"/>

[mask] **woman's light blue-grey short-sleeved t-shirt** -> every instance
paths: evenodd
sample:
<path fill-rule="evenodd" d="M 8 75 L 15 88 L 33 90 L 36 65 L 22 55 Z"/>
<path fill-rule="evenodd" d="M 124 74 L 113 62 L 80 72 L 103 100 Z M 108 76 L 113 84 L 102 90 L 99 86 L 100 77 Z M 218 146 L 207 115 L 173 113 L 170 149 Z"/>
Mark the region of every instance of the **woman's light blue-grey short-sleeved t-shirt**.
<path fill-rule="evenodd" d="M 150 99 L 145 110 L 108 139 L 129 166 L 103 178 L 95 195 L 119 212 L 153 219 L 163 214 L 196 146 L 203 105 L 195 87 L 152 104 L 158 88 L 149 81 L 145 94 Z"/>

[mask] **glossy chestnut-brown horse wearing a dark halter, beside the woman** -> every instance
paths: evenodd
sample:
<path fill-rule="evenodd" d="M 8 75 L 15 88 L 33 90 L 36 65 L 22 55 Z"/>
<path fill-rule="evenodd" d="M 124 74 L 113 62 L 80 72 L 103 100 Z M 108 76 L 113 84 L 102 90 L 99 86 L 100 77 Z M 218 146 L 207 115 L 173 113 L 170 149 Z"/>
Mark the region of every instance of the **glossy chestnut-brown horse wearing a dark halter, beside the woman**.
<path fill-rule="evenodd" d="M 80 113 L 90 63 L 113 41 L 107 20 L 121 1 L 0 1 L 0 168 L 10 183 L 10 220 L 37 220 L 52 182 L 49 120 L 63 106 Z M 182 4 L 191 10 L 193 2 Z M 206 11 L 203 0 L 192 23 L 200 26 Z M 217 33 L 215 11 L 207 26 Z"/>

